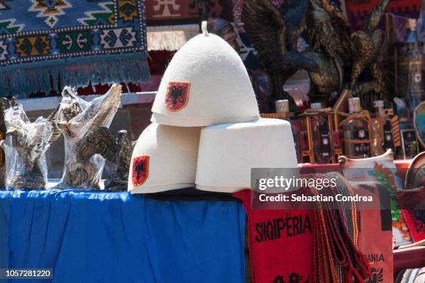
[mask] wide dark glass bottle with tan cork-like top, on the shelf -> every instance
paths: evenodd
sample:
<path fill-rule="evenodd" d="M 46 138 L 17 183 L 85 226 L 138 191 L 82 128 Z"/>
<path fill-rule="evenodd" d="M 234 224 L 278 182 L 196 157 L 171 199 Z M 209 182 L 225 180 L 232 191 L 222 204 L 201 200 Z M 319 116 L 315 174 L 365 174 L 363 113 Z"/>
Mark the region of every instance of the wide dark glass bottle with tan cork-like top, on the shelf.
<path fill-rule="evenodd" d="M 349 98 L 349 114 L 362 111 L 360 98 Z M 367 121 L 362 118 L 353 118 L 344 123 L 344 155 L 349 158 L 370 157 L 369 130 Z"/>

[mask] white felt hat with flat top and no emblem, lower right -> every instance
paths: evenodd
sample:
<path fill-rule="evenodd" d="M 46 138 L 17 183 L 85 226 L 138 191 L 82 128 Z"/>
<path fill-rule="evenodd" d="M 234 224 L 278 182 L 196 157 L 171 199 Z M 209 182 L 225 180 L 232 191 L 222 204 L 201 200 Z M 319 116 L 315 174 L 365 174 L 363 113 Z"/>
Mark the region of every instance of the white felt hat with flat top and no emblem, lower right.
<path fill-rule="evenodd" d="M 201 130 L 197 189 L 226 193 L 249 189 L 251 168 L 298 168 L 288 121 L 260 118 Z"/>

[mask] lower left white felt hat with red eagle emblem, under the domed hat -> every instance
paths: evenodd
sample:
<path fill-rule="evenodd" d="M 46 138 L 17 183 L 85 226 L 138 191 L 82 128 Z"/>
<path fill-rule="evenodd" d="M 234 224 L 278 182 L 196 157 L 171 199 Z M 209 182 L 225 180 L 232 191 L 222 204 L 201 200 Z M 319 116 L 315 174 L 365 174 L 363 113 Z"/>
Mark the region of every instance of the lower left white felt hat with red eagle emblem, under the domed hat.
<path fill-rule="evenodd" d="M 135 144 L 128 191 L 147 194 L 194 187 L 200 135 L 200 127 L 151 123 Z"/>

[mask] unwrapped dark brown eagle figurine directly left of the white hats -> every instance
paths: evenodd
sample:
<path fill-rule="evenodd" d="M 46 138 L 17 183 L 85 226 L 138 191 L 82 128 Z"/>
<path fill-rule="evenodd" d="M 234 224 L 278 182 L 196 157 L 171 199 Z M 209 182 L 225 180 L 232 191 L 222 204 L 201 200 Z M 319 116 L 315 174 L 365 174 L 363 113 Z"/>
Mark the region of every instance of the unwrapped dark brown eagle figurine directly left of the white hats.
<path fill-rule="evenodd" d="M 108 191 L 126 191 L 131 154 L 135 141 L 129 141 L 126 130 L 120 130 L 115 138 L 105 127 L 98 127 L 81 141 L 78 159 L 86 162 L 95 154 L 117 165 L 115 174 L 105 181 Z"/>

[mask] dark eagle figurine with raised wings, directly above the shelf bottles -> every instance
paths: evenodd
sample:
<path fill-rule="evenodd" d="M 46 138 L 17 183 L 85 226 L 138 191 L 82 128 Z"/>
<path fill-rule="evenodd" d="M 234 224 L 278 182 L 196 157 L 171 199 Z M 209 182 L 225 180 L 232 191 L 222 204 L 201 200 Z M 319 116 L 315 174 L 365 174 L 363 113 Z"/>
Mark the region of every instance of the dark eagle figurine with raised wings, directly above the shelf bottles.
<path fill-rule="evenodd" d="M 309 73 L 319 92 L 329 94 L 347 87 L 353 96 L 363 96 L 383 91 L 381 71 L 376 64 L 382 31 L 376 28 L 388 1 L 381 1 L 372 10 L 361 31 L 351 33 L 349 22 L 338 8 L 328 0 L 310 0 L 306 21 L 310 50 L 305 55 L 319 64 L 318 72 Z M 358 82 L 366 68 L 374 80 Z M 348 82 L 344 83 L 346 77 Z"/>

